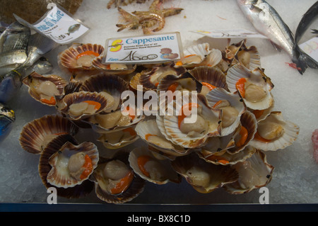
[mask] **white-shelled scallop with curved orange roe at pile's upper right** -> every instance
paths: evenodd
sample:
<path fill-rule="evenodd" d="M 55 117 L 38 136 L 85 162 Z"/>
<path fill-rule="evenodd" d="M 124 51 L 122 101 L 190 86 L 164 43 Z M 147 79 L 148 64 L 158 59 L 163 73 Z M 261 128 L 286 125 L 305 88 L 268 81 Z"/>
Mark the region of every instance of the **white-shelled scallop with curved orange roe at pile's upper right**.
<path fill-rule="evenodd" d="M 273 84 L 261 69 L 250 71 L 235 64 L 228 70 L 226 81 L 231 92 L 239 92 L 247 108 L 264 110 L 273 105 Z"/>

